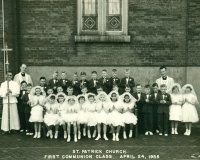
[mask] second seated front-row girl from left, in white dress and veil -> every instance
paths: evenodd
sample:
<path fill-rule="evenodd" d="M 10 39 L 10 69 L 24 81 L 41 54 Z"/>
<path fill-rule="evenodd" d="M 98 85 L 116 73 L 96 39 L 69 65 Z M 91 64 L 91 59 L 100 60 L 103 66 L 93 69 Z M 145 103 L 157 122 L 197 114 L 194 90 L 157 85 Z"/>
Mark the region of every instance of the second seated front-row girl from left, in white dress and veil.
<path fill-rule="evenodd" d="M 64 139 L 67 139 L 67 129 L 65 124 L 65 117 L 66 117 L 66 110 L 67 110 L 67 104 L 66 104 L 66 95 L 64 93 L 58 93 L 56 95 L 56 99 L 58 101 L 58 125 L 56 125 L 56 132 L 55 135 L 58 136 L 58 128 L 59 125 L 63 127 L 64 130 Z"/>

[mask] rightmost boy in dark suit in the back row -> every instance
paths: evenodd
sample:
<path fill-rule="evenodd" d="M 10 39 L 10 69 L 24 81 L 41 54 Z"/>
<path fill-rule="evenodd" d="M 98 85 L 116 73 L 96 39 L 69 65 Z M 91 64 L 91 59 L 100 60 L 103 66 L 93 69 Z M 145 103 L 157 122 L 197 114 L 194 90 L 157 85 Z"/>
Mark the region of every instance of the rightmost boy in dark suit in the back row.
<path fill-rule="evenodd" d="M 121 79 L 120 87 L 121 87 L 121 94 L 125 92 L 126 85 L 131 87 L 131 93 L 133 93 L 133 87 L 135 87 L 134 78 L 130 77 L 130 70 L 125 69 L 125 77 Z"/>

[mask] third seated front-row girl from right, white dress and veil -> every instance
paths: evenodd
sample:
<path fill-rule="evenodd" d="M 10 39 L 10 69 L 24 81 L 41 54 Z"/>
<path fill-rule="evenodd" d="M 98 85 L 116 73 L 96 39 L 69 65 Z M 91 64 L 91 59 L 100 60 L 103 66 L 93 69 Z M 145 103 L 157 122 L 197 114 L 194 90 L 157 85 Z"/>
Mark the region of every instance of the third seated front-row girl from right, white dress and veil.
<path fill-rule="evenodd" d="M 107 141 L 108 138 L 106 136 L 107 124 L 108 124 L 108 95 L 101 91 L 97 96 L 97 105 L 96 105 L 96 120 L 97 120 L 97 130 L 98 136 L 95 140 L 99 140 L 101 138 L 101 123 L 103 123 L 103 138 Z"/>

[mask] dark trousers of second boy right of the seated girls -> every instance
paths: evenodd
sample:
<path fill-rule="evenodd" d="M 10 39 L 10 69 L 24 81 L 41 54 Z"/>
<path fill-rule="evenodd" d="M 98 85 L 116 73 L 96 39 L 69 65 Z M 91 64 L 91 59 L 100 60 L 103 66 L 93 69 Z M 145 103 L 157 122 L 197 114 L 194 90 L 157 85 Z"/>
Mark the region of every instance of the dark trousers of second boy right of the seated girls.
<path fill-rule="evenodd" d="M 144 113 L 144 131 L 153 132 L 153 113 Z"/>

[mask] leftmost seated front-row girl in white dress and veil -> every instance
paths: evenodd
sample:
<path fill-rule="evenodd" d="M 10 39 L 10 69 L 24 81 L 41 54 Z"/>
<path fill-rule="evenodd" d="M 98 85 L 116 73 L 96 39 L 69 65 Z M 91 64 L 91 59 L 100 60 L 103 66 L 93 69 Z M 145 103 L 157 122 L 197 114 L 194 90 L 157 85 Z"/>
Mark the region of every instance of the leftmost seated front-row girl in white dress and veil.
<path fill-rule="evenodd" d="M 48 101 L 44 105 L 46 113 L 44 115 L 44 123 L 46 124 L 46 127 L 48 129 L 47 132 L 47 137 L 52 139 L 53 138 L 53 133 L 52 133 L 52 128 L 53 126 L 58 125 L 58 103 L 56 102 L 56 95 L 52 94 L 47 97 Z M 55 139 L 58 138 L 58 134 L 56 132 L 55 134 Z"/>

